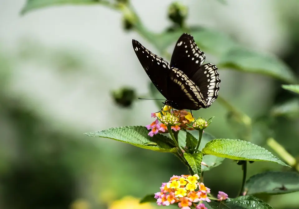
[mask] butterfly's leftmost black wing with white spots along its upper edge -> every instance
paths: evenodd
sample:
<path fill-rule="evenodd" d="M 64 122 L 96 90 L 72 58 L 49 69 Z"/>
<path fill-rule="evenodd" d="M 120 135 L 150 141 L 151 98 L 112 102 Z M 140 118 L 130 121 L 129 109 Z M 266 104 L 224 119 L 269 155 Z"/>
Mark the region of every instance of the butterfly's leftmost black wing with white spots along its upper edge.
<path fill-rule="evenodd" d="M 142 67 L 144 68 L 150 80 L 160 91 L 160 93 L 167 98 L 167 82 L 166 77 L 169 74 L 169 63 L 163 58 L 152 53 L 150 50 L 146 49 L 142 44 L 136 40 L 132 40 L 134 51 L 139 59 Z"/>

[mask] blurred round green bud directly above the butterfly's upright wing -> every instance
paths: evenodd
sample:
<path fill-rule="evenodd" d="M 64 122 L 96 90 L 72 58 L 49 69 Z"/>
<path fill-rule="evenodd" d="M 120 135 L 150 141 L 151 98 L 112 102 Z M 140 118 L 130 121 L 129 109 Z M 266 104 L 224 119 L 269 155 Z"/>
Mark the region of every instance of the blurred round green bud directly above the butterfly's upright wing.
<path fill-rule="evenodd" d="M 180 2 L 173 2 L 168 7 L 168 17 L 175 24 L 183 27 L 184 21 L 188 15 L 188 7 L 184 6 Z"/>

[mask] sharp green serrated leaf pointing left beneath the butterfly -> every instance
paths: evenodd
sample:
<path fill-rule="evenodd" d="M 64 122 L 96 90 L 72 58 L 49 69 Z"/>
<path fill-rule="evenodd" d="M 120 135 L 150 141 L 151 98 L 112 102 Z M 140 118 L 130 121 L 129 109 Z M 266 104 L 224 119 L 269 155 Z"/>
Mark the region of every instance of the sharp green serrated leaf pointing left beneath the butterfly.
<path fill-rule="evenodd" d="M 170 138 L 159 133 L 150 137 L 148 133 L 149 131 L 143 126 L 126 126 L 85 134 L 90 137 L 110 138 L 153 151 L 177 152 L 177 148 L 171 145 Z"/>

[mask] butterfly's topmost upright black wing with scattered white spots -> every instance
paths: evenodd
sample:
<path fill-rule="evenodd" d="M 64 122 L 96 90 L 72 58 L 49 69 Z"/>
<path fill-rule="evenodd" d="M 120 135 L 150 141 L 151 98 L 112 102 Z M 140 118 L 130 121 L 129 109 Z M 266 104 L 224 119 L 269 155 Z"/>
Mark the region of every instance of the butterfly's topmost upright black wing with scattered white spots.
<path fill-rule="evenodd" d="M 184 33 L 174 47 L 170 67 L 176 67 L 188 77 L 192 77 L 205 58 L 205 54 L 197 47 L 193 37 Z"/>

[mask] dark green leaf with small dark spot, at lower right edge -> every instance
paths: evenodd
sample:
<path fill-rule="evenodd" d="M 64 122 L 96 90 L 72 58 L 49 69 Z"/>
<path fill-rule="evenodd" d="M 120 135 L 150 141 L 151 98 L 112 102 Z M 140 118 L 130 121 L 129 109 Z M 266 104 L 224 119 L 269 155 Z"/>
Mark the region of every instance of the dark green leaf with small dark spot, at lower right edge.
<path fill-rule="evenodd" d="M 299 191 L 299 174 L 287 171 L 268 171 L 251 176 L 245 184 L 247 194 L 285 194 Z"/>

